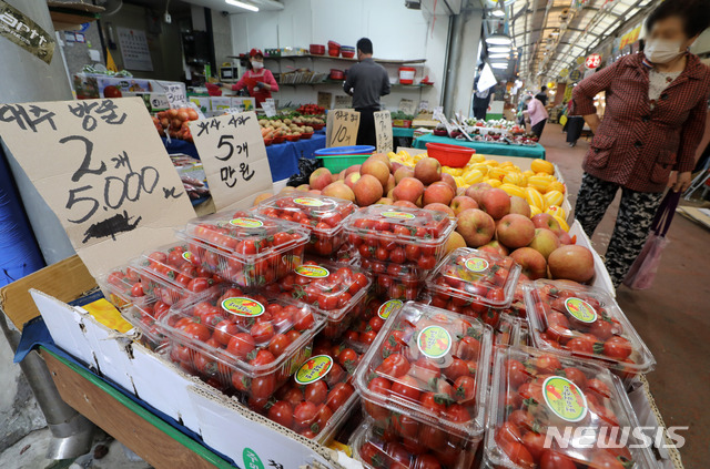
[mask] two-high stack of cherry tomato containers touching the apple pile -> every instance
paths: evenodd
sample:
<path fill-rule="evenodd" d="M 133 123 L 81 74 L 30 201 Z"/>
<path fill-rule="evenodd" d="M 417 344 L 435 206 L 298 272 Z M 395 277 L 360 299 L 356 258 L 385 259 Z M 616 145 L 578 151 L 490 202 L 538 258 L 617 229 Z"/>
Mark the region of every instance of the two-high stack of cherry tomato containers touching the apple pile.
<path fill-rule="evenodd" d="M 445 213 L 389 205 L 362 208 L 345 223 L 361 265 L 375 277 L 374 292 L 388 299 L 419 296 L 455 227 Z"/>

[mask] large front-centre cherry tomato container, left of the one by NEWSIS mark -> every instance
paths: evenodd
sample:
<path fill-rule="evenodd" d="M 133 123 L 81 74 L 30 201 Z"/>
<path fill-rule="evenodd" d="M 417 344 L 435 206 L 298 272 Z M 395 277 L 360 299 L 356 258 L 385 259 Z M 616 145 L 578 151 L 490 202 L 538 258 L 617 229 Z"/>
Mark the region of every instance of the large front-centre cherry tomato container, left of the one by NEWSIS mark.
<path fill-rule="evenodd" d="M 406 303 L 389 316 L 355 373 L 374 425 L 467 468 L 484 434 L 491 329 Z"/>

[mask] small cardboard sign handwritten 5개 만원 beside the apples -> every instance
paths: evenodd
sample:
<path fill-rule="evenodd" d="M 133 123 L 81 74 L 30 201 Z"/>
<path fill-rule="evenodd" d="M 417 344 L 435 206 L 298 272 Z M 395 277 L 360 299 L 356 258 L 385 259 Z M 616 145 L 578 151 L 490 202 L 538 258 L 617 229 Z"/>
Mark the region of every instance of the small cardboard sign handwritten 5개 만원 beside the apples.
<path fill-rule="evenodd" d="M 217 211 L 246 208 L 272 191 L 271 167 L 254 111 L 190 122 Z"/>

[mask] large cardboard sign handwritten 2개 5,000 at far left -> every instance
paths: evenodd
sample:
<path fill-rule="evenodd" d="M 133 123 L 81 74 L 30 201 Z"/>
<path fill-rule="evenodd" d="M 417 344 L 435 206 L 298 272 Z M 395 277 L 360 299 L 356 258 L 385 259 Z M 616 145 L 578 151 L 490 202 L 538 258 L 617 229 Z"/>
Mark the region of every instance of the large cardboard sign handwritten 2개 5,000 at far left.
<path fill-rule="evenodd" d="M 0 137 L 94 276 L 195 216 L 141 98 L 0 104 Z"/>

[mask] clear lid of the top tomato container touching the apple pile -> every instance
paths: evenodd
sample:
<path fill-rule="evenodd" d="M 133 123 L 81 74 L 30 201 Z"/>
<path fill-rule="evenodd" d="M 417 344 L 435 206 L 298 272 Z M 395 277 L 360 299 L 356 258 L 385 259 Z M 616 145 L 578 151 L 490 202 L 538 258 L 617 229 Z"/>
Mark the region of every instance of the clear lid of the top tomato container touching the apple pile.
<path fill-rule="evenodd" d="M 345 231 L 355 235 L 354 238 L 351 236 L 351 239 L 359 238 L 366 244 L 371 239 L 377 239 L 385 249 L 387 246 L 383 246 L 382 242 L 386 241 L 436 247 L 446 243 L 455 227 L 456 221 L 443 212 L 393 205 L 371 205 L 361 208 L 345 222 Z M 424 252 L 420 254 L 426 255 Z"/>

